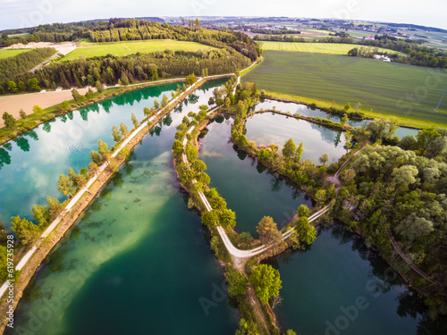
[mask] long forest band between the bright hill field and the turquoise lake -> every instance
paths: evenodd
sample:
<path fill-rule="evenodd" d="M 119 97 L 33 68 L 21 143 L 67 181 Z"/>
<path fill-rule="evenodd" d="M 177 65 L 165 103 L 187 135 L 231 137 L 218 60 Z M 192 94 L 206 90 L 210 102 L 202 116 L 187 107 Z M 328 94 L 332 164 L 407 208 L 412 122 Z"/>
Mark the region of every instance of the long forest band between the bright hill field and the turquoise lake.
<path fill-rule="evenodd" d="M 38 80 L 40 88 L 82 88 L 95 86 L 97 81 L 114 85 L 121 80 L 128 85 L 138 80 L 157 80 L 175 76 L 185 77 L 191 73 L 208 75 L 238 71 L 249 66 L 249 58 L 227 50 L 156 52 L 154 54 L 134 54 L 125 57 L 112 55 L 94 59 L 79 59 L 72 62 L 49 64 L 35 73 L 23 73 L 4 80 L 0 85 L 0 94 L 13 93 L 9 88 L 12 82 L 16 86 L 29 80 Z"/>

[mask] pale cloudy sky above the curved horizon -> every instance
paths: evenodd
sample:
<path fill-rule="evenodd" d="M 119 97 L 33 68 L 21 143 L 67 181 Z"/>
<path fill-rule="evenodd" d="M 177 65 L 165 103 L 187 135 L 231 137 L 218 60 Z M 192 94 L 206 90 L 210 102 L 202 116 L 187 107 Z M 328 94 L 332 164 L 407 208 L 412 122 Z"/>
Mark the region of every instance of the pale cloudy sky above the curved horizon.
<path fill-rule="evenodd" d="M 446 0 L 0 0 L 0 29 L 140 16 L 290 16 L 447 29 Z"/>

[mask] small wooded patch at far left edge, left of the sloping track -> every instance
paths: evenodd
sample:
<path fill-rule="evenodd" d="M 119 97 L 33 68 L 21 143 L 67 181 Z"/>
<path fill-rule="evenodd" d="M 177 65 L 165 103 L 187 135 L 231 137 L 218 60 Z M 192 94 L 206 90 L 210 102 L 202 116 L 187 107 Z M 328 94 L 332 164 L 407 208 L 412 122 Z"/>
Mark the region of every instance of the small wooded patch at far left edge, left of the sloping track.
<path fill-rule="evenodd" d="M 8 80 L 17 74 L 30 71 L 39 63 L 56 53 L 53 47 L 30 49 L 13 57 L 0 59 L 0 81 Z M 24 89 L 24 87 L 22 87 Z"/>

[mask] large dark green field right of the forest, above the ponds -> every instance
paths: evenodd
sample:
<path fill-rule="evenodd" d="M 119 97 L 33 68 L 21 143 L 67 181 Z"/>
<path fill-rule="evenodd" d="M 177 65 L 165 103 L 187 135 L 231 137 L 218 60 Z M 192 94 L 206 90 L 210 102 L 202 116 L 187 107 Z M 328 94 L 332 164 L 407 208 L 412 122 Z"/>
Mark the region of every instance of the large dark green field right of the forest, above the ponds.
<path fill-rule="evenodd" d="M 243 77 L 258 89 L 354 108 L 360 103 L 361 110 L 396 115 L 413 126 L 447 126 L 447 96 L 434 113 L 447 88 L 447 71 L 330 54 L 265 51 L 264 57 Z M 404 122 L 410 119 L 416 121 Z"/>

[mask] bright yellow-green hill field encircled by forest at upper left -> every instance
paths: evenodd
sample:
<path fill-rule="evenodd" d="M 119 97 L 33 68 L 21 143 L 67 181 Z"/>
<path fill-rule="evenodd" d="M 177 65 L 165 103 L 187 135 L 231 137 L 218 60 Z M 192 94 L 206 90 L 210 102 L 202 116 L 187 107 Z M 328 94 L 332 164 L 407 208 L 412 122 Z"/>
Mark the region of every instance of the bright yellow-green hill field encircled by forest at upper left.
<path fill-rule="evenodd" d="M 184 42 L 171 39 L 151 39 L 147 41 L 117 42 L 117 43 L 81 43 L 81 46 L 73 50 L 61 59 L 61 61 L 72 61 L 78 59 L 81 55 L 86 58 L 95 56 L 104 56 L 106 54 L 125 55 L 140 53 L 154 53 L 157 50 L 164 51 L 184 50 L 198 51 L 198 49 L 215 49 L 212 46 L 206 46 L 196 42 Z"/>

